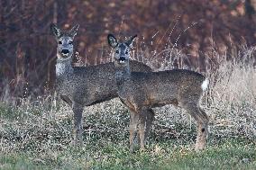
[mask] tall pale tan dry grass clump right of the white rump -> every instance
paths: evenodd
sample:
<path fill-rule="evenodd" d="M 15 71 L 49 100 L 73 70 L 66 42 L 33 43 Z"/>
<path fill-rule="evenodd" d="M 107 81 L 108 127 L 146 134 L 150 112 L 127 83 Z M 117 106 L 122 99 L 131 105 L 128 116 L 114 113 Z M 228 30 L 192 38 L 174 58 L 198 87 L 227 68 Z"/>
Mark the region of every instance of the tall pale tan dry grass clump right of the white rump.
<path fill-rule="evenodd" d="M 236 58 L 224 58 L 217 69 L 208 71 L 211 83 L 206 93 L 207 110 L 217 135 L 256 136 L 254 53 L 255 48 L 243 49 Z"/>

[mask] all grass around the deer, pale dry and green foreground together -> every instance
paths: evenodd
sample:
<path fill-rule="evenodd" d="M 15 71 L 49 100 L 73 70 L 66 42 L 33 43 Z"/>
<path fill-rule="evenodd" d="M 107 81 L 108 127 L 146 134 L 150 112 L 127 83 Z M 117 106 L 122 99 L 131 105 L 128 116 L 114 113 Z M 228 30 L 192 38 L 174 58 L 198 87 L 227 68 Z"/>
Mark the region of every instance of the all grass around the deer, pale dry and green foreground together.
<path fill-rule="evenodd" d="M 73 113 L 57 95 L 19 99 L 17 105 L 5 93 L 0 102 L 0 169 L 256 169 L 254 50 L 245 49 L 240 60 L 221 59 L 206 70 L 210 85 L 201 105 L 210 131 L 202 152 L 193 150 L 196 122 L 171 105 L 154 109 L 146 151 L 130 154 L 129 112 L 118 99 L 86 108 L 85 146 L 74 148 Z M 159 70 L 172 68 L 165 65 L 171 60 Z"/>

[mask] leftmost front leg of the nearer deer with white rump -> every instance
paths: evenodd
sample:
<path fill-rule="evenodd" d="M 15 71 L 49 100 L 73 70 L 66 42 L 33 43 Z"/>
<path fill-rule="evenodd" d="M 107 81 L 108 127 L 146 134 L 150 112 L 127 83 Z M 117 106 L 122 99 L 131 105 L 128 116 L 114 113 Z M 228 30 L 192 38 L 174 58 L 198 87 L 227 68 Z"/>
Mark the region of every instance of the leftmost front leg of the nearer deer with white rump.
<path fill-rule="evenodd" d="M 134 138 L 137 131 L 137 125 L 139 122 L 140 115 L 138 112 L 132 112 L 130 113 L 130 152 L 133 153 L 134 148 Z"/>

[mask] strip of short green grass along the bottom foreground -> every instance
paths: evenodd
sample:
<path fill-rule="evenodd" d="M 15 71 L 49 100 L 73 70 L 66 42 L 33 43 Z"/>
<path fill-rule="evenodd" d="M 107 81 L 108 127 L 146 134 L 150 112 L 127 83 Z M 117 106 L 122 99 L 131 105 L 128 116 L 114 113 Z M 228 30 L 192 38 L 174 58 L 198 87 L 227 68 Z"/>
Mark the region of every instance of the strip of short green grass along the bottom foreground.
<path fill-rule="evenodd" d="M 1 169 L 255 169 L 255 142 L 222 139 L 195 152 L 191 143 L 152 143 L 147 151 L 129 153 L 126 145 L 108 142 L 103 146 L 66 149 L 47 153 L 17 152 L 0 156 Z M 99 147 L 99 148 L 98 148 Z"/>

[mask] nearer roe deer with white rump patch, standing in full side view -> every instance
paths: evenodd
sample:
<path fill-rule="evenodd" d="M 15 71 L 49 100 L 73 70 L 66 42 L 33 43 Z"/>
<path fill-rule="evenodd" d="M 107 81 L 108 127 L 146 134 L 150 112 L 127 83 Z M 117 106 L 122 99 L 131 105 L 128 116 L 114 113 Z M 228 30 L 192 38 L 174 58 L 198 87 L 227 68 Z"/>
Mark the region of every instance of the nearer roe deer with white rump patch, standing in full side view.
<path fill-rule="evenodd" d="M 109 45 L 115 50 L 114 66 L 118 95 L 131 111 L 130 151 L 133 152 L 133 136 L 139 126 L 141 148 L 144 149 L 143 119 L 147 110 L 166 104 L 174 104 L 186 109 L 198 123 L 195 149 L 206 146 L 208 117 L 199 107 L 199 100 L 206 90 L 208 80 L 201 74 L 185 69 L 142 73 L 133 72 L 129 65 L 133 36 L 125 42 L 118 42 L 112 34 L 107 37 Z"/>

